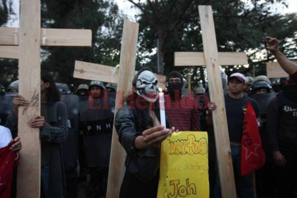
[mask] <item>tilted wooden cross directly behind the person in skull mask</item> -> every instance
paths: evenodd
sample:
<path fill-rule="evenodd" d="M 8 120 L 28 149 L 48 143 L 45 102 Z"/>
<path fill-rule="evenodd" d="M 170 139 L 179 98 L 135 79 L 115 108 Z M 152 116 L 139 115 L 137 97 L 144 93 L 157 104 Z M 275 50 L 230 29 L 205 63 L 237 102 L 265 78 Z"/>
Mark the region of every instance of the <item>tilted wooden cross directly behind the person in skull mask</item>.
<path fill-rule="evenodd" d="M 124 20 L 119 69 L 111 66 L 75 61 L 73 77 L 118 84 L 115 115 L 123 97 L 128 96 L 129 91 L 132 90 L 132 80 L 135 75 L 138 28 L 138 23 Z M 106 197 L 119 197 L 125 173 L 125 159 L 126 152 L 119 143 L 118 134 L 115 127 L 113 127 Z"/>

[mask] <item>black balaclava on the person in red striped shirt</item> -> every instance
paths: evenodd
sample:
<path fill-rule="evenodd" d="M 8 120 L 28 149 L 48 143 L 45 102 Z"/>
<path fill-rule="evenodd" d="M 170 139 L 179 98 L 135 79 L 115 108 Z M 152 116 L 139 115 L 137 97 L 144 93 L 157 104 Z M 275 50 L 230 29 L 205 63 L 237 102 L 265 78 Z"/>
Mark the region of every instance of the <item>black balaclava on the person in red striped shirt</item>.
<path fill-rule="evenodd" d="M 170 78 L 179 78 L 181 79 L 180 83 L 169 83 Z M 182 92 L 181 89 L 183 88 L 184 81 L 183 76 L 178 71 L 172 71 L 170 72 L 168 76 L 168 92 L 169 96 L 172 100 L 175 100 L 176 98 L 181 99 Z M 178 97 L 176 96 L 178 94 Z"/>

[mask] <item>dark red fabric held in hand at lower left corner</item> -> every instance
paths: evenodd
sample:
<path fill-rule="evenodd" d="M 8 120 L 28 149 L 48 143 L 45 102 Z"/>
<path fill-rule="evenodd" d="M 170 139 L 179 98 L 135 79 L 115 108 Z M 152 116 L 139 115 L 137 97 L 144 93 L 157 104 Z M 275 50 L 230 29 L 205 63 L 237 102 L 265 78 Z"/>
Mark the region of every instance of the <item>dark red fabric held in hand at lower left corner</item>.
<path fill-rule="evenodd" d="M 16 153 L 9 150 L 11 145 L 3 147 L 0 149 L 0 197 L 9 198 L 13 168 L 19 161 L 15 161 Z"/>

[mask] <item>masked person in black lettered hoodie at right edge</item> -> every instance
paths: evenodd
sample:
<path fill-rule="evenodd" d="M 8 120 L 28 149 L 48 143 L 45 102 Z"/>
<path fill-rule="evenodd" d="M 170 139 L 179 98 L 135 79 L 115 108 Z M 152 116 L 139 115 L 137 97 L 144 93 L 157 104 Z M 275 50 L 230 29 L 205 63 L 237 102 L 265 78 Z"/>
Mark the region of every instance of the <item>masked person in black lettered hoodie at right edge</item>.
<path fill-rule="evenodd" d="M 297 84 L 282 83 L 267 107 L 267 131 L 277 165 L 277 197 L 294 197 L 297 166 Z"/>

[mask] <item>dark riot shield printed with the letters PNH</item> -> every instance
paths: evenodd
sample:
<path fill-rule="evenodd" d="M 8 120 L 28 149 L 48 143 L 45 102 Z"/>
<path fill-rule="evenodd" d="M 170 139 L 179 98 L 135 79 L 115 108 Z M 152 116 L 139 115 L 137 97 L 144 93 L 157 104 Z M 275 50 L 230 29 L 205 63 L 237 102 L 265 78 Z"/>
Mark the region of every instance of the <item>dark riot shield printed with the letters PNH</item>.
<path fill-rule="evenodd" d="M 80 100 L 80 129 L 83 131 L 89 167 L 109 166 L 115 93 L 105 93 L 99 99 L 89 96 Z"/>

